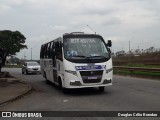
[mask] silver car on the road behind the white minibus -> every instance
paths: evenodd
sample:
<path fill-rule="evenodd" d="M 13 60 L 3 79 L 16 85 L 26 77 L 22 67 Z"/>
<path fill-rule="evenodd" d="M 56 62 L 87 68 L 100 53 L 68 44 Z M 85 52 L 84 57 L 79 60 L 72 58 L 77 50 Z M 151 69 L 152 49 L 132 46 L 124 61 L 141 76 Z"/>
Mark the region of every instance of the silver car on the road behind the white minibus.
<path fill-rule="evenodd" d="M 22 74 L 40 73 L 40 65 L 38 62 L 25 62 L 22 66 Z"/>

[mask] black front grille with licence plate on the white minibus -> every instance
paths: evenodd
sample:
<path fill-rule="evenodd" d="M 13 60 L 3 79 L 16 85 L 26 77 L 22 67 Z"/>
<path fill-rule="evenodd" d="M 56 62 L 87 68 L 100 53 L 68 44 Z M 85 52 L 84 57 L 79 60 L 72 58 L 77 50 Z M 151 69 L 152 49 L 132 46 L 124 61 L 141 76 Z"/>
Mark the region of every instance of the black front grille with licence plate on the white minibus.
<path fill-rule="evenodd" d="M 99 83 L 102 79 L 103 70 L 80 71 L 84 83 Z"/>

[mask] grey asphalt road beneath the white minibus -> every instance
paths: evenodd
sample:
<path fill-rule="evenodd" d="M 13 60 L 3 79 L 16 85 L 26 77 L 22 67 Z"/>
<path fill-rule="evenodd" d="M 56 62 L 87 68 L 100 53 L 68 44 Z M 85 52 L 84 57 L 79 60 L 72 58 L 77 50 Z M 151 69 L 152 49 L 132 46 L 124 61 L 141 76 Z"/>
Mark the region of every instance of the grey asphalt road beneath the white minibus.
<path fill-rule="evenodd" d="M 30 82 L 34 91 L 0 107 L 0 111 L 160 111 L 160 81 L 157 80 L 114 76 L 113 85 L 106 87 L 104 93 L 93 88 L 63 94 L 56 86 L 46 84 L 41 75 L 22 75 L 21 69 L 3 70 Z"/>

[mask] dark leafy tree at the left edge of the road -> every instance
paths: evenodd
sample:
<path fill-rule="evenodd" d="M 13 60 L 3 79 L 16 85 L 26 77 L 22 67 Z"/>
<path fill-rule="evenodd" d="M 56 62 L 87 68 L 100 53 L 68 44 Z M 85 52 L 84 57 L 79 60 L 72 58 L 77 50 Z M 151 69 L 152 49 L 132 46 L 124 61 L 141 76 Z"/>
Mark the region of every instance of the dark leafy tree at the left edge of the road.
<path fill-rule="evenodd" d="M 25 36 L 19 31 L 3 30 L 0 31 L 0 72 L 5 65 L 6 57 L 15 55 L 21 49 L 27 48 Z"/>

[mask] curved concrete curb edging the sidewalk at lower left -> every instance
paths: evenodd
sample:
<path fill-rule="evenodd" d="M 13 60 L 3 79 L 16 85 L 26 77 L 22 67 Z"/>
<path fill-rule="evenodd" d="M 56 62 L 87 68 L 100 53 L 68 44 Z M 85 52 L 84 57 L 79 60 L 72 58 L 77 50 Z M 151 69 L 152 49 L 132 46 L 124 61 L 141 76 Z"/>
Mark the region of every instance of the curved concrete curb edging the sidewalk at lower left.
<path fill-rule="evenodd" d="M 17 81 L 16 81 L 16 82 L 17 82 Z M 11 99 L 9 99 L 9 100 L 6 100 L 6 101 L 1 102 L 1 103 L 0 103 L 0 106 L 2 106 L 2 105 L 4 105 L 4 104 L 7 104 L 7 103 L 9 103 L 9 102 L 13 102 L 13 101 L 15 101 L 15 100 L 23 97 L 24 95 L 29 94 L 29 93 L 32 91 L 32 85 L 31 85 L 31 84 L 26 83 L 26 82 L 24 82 L 24 81 L 18 81 L 18 82 L 19 82 L 19 83 L 23 83 L 23 84 L 28 84 L 28 90 L 24 91 L 23 93 L 15 96 L 15 97 L 13 97 L 13 98 L 11 98 Z"/>

